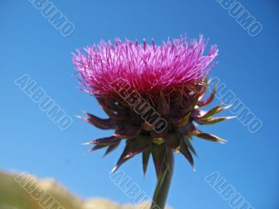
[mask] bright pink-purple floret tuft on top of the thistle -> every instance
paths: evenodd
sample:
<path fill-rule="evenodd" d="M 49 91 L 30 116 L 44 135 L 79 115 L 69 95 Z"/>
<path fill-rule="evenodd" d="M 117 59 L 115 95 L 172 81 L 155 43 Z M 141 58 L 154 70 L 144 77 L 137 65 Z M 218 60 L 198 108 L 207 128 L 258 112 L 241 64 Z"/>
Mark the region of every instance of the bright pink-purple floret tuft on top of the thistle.
<path fill-rule="evenodd" d="M 116 79 L 129 85 L 139 94 L 168 93 L 180 91 L 200 82 L 216 64 L 216 45 L 211 45 L 208 55 L 203 55 L 207 41 L 202 35 L 199 40 L 173 39 L 156 45 L 143 41 L 121 41 L 119 38 L 107 43 L 77 50 L 73 62 L 80 74 L 82 90 L 97 97 L 115 94 L 119 88 Z"/>

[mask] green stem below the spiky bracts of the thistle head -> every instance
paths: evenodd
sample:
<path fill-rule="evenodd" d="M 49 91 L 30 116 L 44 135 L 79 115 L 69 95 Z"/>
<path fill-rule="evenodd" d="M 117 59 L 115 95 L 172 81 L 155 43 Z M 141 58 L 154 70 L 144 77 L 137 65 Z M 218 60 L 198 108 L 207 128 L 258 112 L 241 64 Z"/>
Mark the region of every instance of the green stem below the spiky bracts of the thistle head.
<path fill-rule="evenodd" d="M 166 149 L 163 160 L 162 172 L 160 173 L 156 190 L 153 195 L 151 209 L 164 209 L 167 201 L 169 186 L 172 182 L 172 173 L 174 171 L 174 153 L 172 150 Z"/>

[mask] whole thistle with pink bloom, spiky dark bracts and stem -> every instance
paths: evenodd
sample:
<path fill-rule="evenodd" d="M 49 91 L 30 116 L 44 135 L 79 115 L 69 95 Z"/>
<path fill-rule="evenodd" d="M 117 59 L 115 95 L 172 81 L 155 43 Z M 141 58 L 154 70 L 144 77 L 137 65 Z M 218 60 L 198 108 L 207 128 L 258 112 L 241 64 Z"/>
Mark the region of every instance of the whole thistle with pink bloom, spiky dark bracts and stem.
<path fill-rule="evenodd" d="M 153 206 L 164 208 L 172 178 L 173 152 L 183 154 L 194 168 L 192 136 L 219 143 L 225 140 L 197 129 L 197 124 L 215 124 L 230 117 L 213 117 L 225 110 L 222 104 L 201 110 L 213 101 L 216 88 L 204 99 L 209 87 L 207 75 L 216 62 L 216 45 L 204 55 L 206 41 L 173 39 L 156 45 L 143 41 L 121 41 L 77 50 L 73 62 L 81 89 L 98 99 L 107 119 L 86 113 L 80 117 L 100 129 L 115 129 L 112 136 L 93 140 L 91 151 L 114 150 L 121 140 L 126 147 L 113 171 L 142 154 L 144 173 L 150 155 L 156 168 L 157 187 Z"/>

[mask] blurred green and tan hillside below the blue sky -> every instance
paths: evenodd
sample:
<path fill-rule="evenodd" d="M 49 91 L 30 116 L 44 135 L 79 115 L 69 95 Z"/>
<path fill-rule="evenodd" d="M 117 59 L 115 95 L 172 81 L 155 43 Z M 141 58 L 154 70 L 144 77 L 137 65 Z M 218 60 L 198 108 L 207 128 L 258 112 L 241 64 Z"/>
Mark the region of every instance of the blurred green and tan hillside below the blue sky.
<path fill-rule="evenodd" d="M 54 180 L 18 175 L 0 171 L 0 209 L 148 209 L 100 198 L 83 200 Z"/>

